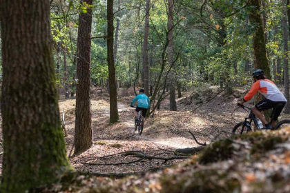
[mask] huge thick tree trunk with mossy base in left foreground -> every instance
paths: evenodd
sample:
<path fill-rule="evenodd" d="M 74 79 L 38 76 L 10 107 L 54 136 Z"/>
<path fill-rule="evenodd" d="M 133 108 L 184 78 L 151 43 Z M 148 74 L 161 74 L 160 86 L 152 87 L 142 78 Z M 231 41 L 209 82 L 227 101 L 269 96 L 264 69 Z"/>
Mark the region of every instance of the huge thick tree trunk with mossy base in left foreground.
<path fill-rule="evenodd" d="M 70 170 L 59 120 L 49 10 L 48 0 L 1 1 L 3 193 L 28 192 Z"/>

